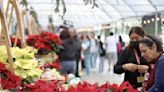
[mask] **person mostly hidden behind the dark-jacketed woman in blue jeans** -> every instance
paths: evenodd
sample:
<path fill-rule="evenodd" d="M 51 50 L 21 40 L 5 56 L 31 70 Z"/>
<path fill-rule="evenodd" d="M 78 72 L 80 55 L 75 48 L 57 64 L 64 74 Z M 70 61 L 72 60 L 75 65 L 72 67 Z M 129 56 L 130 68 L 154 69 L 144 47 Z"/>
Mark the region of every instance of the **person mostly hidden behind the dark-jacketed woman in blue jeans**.
<path fill-rule="evenodd" d="M 81 57 L 81 40 L 78 37 L 78 35 L 76 34 L 76 30 L 75 29 L 70 29 L 70 33 L 71 36 L 73 37 L 76 45 L 77 45 L 77 50 L 76 50 L 76 54 L 75 54 L 75 60 L 76 60 L 76 73 L 75 76 L 76 77 L 80 77 L 79 76 L 79 61 L 80 61 L 80 57 Z"/>

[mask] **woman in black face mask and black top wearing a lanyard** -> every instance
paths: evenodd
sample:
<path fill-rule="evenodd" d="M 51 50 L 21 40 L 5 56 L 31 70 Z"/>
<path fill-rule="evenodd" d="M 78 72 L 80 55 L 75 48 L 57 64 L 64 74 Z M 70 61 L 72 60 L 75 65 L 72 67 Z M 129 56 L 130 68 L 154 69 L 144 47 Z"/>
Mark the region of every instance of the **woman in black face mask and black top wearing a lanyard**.
<path fill-rule="evenodd" d="M 114 73 L 125 73 L 124 81 L 128 81 L 135 89 L 142 87 L 144 73 L 148 69 L 139 50 L 139 40 L 144 36 L 145 32 L 141 27 L 132 27 L 129 33 L 130 44 L 120 53 L 114 66 Z"/>

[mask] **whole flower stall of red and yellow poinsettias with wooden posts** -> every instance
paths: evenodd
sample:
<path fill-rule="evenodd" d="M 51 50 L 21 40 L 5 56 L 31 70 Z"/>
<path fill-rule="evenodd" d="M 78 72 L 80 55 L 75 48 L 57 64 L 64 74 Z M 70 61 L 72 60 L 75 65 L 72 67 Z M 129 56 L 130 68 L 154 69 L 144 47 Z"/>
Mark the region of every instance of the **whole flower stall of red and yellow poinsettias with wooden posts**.
<path fill-rule="evenodd" d="M 17 7 L 16 0 L 8 3 Z M 1 31 L 4 37 L 0 35 L 4 38 L 0 39 L 0 92 L 138 92 L 128 82 L 99 85 L 81 81 L 73 74 L 60 75 L 57 54 L 63 47 L 59 36 L 46 31 L 30 35 L 26 39 L 28 46 L 22 48 L 24 34 L 18 7 L 17 22 L 22 39 L 17 36 L 9 39 L 7 26 L 10 25 L 6 25 L 1 2 L 0 8 L 1 24 L 4 26 Z M 5 46 L 1 41 L 5 42 Z"/>

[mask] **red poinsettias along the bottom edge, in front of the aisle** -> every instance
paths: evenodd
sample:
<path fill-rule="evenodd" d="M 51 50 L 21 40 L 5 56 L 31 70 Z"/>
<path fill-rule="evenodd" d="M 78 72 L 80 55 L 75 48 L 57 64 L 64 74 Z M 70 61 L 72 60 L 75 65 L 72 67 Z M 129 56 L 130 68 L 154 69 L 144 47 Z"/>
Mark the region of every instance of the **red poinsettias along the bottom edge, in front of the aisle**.
<path fill-rule="evenodd" d="M 138 92 L 138 90 L 133 89 L 129 82 L 123 82 L 120 86 L 108 82 L 101 86 L 98 86 L 97 83 L 83 82 L 75 87 L 70 86 L 67 92 Z"/>

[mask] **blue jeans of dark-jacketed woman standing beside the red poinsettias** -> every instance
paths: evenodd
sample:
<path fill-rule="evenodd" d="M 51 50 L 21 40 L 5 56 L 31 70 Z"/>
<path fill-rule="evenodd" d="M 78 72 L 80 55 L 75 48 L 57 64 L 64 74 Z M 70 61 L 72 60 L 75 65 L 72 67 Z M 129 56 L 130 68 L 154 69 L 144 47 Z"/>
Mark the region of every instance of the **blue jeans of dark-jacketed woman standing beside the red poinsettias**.
<path fill-rule="evenodd" d="M 61 70 L 62 75 L 65 74 L 75 74 L 76 72 L 76 61 L 61 61 Z"/>

